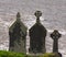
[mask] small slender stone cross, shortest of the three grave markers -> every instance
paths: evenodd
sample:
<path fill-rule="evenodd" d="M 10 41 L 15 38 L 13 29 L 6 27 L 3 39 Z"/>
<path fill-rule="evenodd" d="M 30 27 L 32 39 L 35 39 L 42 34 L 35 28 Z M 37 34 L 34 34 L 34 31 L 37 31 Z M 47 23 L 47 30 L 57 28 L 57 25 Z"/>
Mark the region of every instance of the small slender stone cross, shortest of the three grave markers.
<path fill-rule="evenodd" d="M 61 36 L 62 36 L 62 34 L 59 34 L 57 30 L 54 30 L 54 32 L 51 34 L 51 37 L 54 39 L 53 53 L 58 53 L 58 38 Z"/>

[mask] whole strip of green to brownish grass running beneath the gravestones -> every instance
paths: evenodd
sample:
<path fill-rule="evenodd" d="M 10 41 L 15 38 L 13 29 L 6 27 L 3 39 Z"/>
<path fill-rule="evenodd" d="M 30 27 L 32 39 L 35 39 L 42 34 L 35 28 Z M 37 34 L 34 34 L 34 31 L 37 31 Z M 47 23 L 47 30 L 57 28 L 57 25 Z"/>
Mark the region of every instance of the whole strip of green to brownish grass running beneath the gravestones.
<path fill-rule="evenodd" d="M 54 57 L 54 56 L 55 56 L 55 54 L 52 54 L 52 53 L 46 53 L 44 55 L 32 56 L 32 55 L 25 55 L 23 53 L 0 50 L 0 57 Z"/>

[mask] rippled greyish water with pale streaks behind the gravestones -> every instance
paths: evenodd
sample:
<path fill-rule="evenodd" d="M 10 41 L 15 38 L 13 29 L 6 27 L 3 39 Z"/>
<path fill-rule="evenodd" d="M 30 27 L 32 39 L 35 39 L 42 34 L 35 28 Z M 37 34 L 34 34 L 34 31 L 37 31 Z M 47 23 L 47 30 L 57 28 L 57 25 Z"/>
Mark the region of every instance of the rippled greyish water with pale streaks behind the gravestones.
<path fill-rule="evenodd" d="M 58 30 L 59 52 L 66 56 L 66 0 L 0 0 L 0 49 L 9 49 L 9 27 L 15 21 L 18 12 L 21 21 L 28 30 L 34 25 L 36 18 L 34 12 L 42 11 L 41 23 L 47 30 L 46 50 L 53 50 L 53 39 L 50 34 Z M 28 31 L 29 32 L 29 31 Z M 29 48 L 29 36 L 26 36 L 26 49 Z"/>

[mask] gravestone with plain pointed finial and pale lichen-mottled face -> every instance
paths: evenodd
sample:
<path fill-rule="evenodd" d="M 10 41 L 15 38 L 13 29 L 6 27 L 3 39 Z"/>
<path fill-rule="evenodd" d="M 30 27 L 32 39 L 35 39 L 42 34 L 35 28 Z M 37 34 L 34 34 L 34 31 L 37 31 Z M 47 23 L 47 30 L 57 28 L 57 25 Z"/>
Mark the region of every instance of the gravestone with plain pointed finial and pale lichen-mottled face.
<path fill-rule="evenodd" d="M 19 12 L 16 14 L 16 21 L 9 29 L 9 50 L 25 53 L 26 26 L 21 22 Z"/>

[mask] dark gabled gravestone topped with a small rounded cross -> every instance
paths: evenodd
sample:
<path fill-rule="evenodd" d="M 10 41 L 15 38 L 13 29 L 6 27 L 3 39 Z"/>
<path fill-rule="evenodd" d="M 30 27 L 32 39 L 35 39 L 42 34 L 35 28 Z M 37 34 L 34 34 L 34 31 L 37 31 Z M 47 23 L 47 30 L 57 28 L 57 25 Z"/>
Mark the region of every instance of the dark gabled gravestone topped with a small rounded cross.
<path fill-rule="evenodd" d="M 41 24 L 40 16 L 41 11 L 34 13 L 36 16 L 36 23 L 29 30 L 30 34 L 30 53 L 45 53 L 45 36 L 46 29 Z"/>

